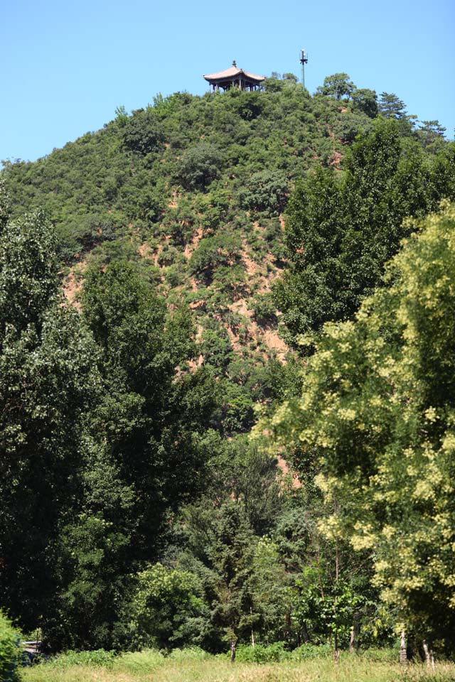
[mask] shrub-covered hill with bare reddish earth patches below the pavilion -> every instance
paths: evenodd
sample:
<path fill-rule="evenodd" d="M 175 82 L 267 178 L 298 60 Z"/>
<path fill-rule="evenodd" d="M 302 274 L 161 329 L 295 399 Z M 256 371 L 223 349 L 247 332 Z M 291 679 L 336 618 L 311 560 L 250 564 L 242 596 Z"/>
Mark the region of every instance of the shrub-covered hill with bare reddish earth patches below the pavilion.
<path fill-rule="evenodd" d="M 289 256 L 283 212 L 294 183 L 311 168 L 339 171 L 378 115 L 397 121 L 414 146 L 408 156 L 417 148 L 434 156 L 443 129 L 415 126 L 395 95 L 378 104 L 346 74 L 328 77 L 314 97 L 288 74 L 269 78 L 264 92 L 179 92 L 116 114 L 36 163 L 6 163 L 13 215 L 41 208 L 55 225 L 70 300 L 88 264 L 127 260 L 168 305 L 188 305 L 197 362 L 228 379 L 226 428 L 249 428 L 252 398 L 269 391 L 267 359 L 287 352 L 271 288 Z M 292 330 L 296 316 L 287 315 Z"/>

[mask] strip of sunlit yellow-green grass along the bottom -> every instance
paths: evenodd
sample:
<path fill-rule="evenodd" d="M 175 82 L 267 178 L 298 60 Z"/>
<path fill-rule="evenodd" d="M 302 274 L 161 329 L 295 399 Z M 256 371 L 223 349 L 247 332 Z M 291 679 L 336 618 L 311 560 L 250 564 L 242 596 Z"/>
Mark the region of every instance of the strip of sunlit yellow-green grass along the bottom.
<path fill-rule="evenodd" d="M 218 656 L 168 656 L 156 651 L 118 656 L 109 667 L 44 664 L 23 669 L 23 682 L 454 682 L 455 664 L 400 669 L 395 663 L 345 656 L 274 664 L 236 663 Z"/>

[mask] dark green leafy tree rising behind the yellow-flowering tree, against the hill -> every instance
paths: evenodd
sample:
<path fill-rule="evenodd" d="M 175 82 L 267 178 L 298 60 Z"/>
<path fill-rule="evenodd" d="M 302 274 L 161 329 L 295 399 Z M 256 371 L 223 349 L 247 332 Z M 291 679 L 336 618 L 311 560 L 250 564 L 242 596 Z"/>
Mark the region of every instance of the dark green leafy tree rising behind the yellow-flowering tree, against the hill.
<path fill-rule="evenodd" d="M 448 146 L 427 161 L 397 124 L 378 121 L 346 155 L 341 180 L 319 170 L 296 186 L 287 210 L 289 267 L 276 288 L 288 342 L 355 313 L 410 233 L 405 217 L 455 196 L 454 160 Z"/>

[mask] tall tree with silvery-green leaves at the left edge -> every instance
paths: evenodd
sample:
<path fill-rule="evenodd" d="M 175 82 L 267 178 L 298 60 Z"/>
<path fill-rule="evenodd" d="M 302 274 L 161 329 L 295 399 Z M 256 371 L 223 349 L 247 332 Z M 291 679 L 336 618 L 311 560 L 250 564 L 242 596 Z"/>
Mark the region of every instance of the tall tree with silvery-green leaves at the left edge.
<path fill-rule="evenodd" d="M 43 215 L 2 222 L 1 599 L 28 629 L 48 616 L 58 589 L 58 538 L 78 496 L 85 415 L 100 377 L 90 334 L 58 296 Z"/>

